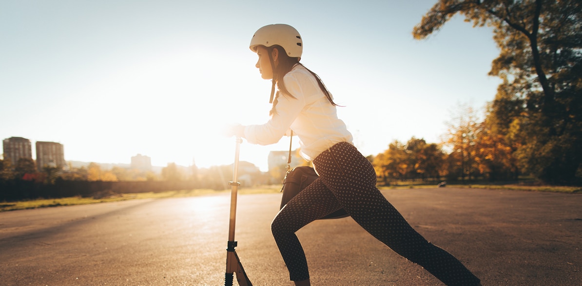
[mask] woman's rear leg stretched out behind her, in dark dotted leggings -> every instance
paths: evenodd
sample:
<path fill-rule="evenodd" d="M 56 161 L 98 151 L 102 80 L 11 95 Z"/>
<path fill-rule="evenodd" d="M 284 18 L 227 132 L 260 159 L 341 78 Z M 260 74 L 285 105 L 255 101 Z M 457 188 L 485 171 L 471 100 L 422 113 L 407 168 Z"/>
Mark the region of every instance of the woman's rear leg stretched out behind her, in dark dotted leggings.
<path fill-rule="evenodd" d="M 447 285 L 478 285 L 459 260 L 426 241 L 386 200 L 375 187 L 374 168 L 353 145 L 336 144 L 313 163 L 328 190 L 368 233 Z"/>

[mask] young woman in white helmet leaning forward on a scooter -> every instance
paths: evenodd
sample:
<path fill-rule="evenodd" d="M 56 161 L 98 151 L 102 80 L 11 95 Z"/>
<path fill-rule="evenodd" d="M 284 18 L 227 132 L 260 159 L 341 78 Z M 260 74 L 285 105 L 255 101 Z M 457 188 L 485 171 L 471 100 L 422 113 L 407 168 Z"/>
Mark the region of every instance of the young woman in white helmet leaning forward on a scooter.
<path fill-rule="evenodd" d="M 254 34 L 261 77 L 272 80 L 271 119 L 262 125 L 236 126 L 230 135 L 251 144 L 278 142 L 290 130 L 299 137 L 301 155 L 312 160 L 320 178 L 281 209 L 271 224 L 281 256 L 295 285 L 310 285 L 307 260 L 295 232 L 343 208 L 368 233 L 446 285 L 480 285 L 462 263 L 426 241 L 375 187 L 376 173 L 352 144 L 352 134 L 336 114 L 332 95 L 317 74 L 299 63 L 303 42 L 293 27 L 273 24 Z M 276 96 L 275 85 L 277 88 Z"/>

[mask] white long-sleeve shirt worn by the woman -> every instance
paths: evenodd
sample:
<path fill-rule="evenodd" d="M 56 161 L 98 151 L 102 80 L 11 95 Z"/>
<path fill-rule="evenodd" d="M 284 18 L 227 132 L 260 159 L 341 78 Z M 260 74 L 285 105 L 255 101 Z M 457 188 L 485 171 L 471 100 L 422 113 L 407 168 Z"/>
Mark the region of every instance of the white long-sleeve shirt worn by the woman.
<path fill-rule="evenodd" d="M 300 153 L 306 160 L 315 159 L 336 143 L 352 143 L 352 134 L 338 119 L 336 106 L 325 97 L 317 80 L 305 67 L 295 65 L 283 81 L 295 98 L 279 95 L 277 112 L 267 123 L 246 126 L 244 137 L 249 143 L 275 144 L 283 135 L 289 135 L 290 129 L 299 137 Z"/>

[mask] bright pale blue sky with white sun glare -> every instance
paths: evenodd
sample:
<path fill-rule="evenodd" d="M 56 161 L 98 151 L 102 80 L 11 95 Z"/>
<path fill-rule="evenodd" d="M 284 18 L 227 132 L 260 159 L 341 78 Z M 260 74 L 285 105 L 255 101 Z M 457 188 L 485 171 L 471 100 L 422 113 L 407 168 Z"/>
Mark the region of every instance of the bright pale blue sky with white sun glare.
<path fill-rule="evenodd" d="M 456 17 L 413 39 L 436 2 L 3 0 L 0 139 L 28 138 L 33 154 L 36 141 L 60 142 L 66 160 L 231 164 L 223 126 L 262 124 L 270 109 L 250 39 L 285 23 L 364 155 L 413 136 L 440 142 L 459 104 L 482 108 L 500 80 L 487 76 L 499 54 L 490 28 Z M 288 146 L 243 142 L 240 160 L 266 171 L 269 151 Z"/>

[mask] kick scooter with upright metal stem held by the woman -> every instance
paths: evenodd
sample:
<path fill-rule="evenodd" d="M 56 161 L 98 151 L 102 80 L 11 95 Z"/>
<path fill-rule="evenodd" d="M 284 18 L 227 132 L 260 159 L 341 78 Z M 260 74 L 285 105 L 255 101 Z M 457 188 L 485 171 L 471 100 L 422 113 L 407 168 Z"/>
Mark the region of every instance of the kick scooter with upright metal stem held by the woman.
<path fill-rule="evenodd" d="M 235 223 L 236 223 L 236 197 L 239 190 L 240 183 L 238 182 L 239 173 L 239 153 L 240 153 L 240 143 L 243 140 L 239 137 L 236 138 L 236 149 L 235 149 L 235 163 L 232 170 L 232 181 L 229 182 L 230 185 L 230 224 L 228 228 L 228 248 L 226 248 L 226 273 L 224 276 L 224 285 L 232 286 L 233 273 L 236 274 L 236 281 L 239 282 L 240 286 L 252 286 L 247 273 L 244 272 L 243 264 L 240 263 L 239 256 L 236 254 L 235 247 Z"/>

